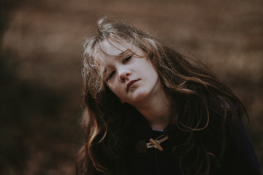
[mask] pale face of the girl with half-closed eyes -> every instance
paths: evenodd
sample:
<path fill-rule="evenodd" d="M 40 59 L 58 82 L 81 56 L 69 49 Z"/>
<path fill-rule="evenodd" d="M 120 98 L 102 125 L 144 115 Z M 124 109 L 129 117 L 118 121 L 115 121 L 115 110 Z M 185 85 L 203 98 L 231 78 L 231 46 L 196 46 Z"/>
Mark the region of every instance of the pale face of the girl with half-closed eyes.
<path fill-rule="evenodd" d="M 161 89 L 153 64 L 139 48 L 125 42 L 109 41 L 102 41 L 106 54 L 99 56 L 107 86 L 122 102 L 133 106 L 149 102 Z"/>

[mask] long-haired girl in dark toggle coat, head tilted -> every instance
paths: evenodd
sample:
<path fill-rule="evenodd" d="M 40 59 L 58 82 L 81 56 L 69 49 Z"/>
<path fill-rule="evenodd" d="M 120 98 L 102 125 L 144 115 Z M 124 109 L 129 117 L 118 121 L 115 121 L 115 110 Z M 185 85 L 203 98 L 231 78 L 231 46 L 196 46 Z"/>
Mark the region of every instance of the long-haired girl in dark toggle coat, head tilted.
<path fill-rule="evenodd" d="M 83 77 L 77 174 L 261 174 L 240 100 L 155 36 L 100 19 Z"/>

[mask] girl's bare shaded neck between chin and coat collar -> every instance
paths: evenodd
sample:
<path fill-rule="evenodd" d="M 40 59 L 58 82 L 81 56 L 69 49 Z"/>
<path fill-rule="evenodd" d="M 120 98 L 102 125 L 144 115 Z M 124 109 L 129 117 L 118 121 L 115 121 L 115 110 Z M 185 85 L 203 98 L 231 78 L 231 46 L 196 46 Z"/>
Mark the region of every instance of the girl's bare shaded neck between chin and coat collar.
<path fill-rule="evenodd" d="M 175 116 L 173 100 L 163 90 L 134 107 L 149 121 L 153 129 L 163 130 Z"/>

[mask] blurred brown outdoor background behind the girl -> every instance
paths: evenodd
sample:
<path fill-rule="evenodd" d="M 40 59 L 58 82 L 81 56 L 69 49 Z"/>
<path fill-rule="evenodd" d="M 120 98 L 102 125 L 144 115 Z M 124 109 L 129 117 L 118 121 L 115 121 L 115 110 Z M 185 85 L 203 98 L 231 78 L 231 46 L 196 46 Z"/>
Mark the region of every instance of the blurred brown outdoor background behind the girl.
<path fill-rule="evenodd" d="M 191 51 L 241 99 L 263 167 L 262 0 L 1 0 L 0 174 L 74 174 L 83 37 L 99 17 Z"/>

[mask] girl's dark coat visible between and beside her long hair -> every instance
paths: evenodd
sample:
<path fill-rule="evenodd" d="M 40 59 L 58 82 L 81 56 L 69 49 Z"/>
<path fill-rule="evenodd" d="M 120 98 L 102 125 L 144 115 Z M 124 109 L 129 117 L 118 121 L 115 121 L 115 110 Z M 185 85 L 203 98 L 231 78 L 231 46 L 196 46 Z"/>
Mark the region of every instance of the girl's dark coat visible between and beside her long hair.
<path fill-rule="evenodd" d="M 176 132 L 176 124 L 172 122 L 163 131 L 152 130 L 144 119 L 139 119 L 135 125 L 133 135 L 133 150 L 130 150 L 129 174 L 138 175 L 182 175 L 179 161 L 174 160 L 172 148 L 174 145 L 173 133 Z M 240 122 L 240 136 L 234 125 L 232 134 L 227 140 L 227 149 L 220 170 L 213 174 L 262 174 L 255 151 L 246 134 L 243 124 Z M 160 145 L 163 151 L 146 147 L 150 138 L 156 139 L 161 135 L 169 135 L 169 139 Z M 170 137 L 171 136 L 171 137 Z"/>

